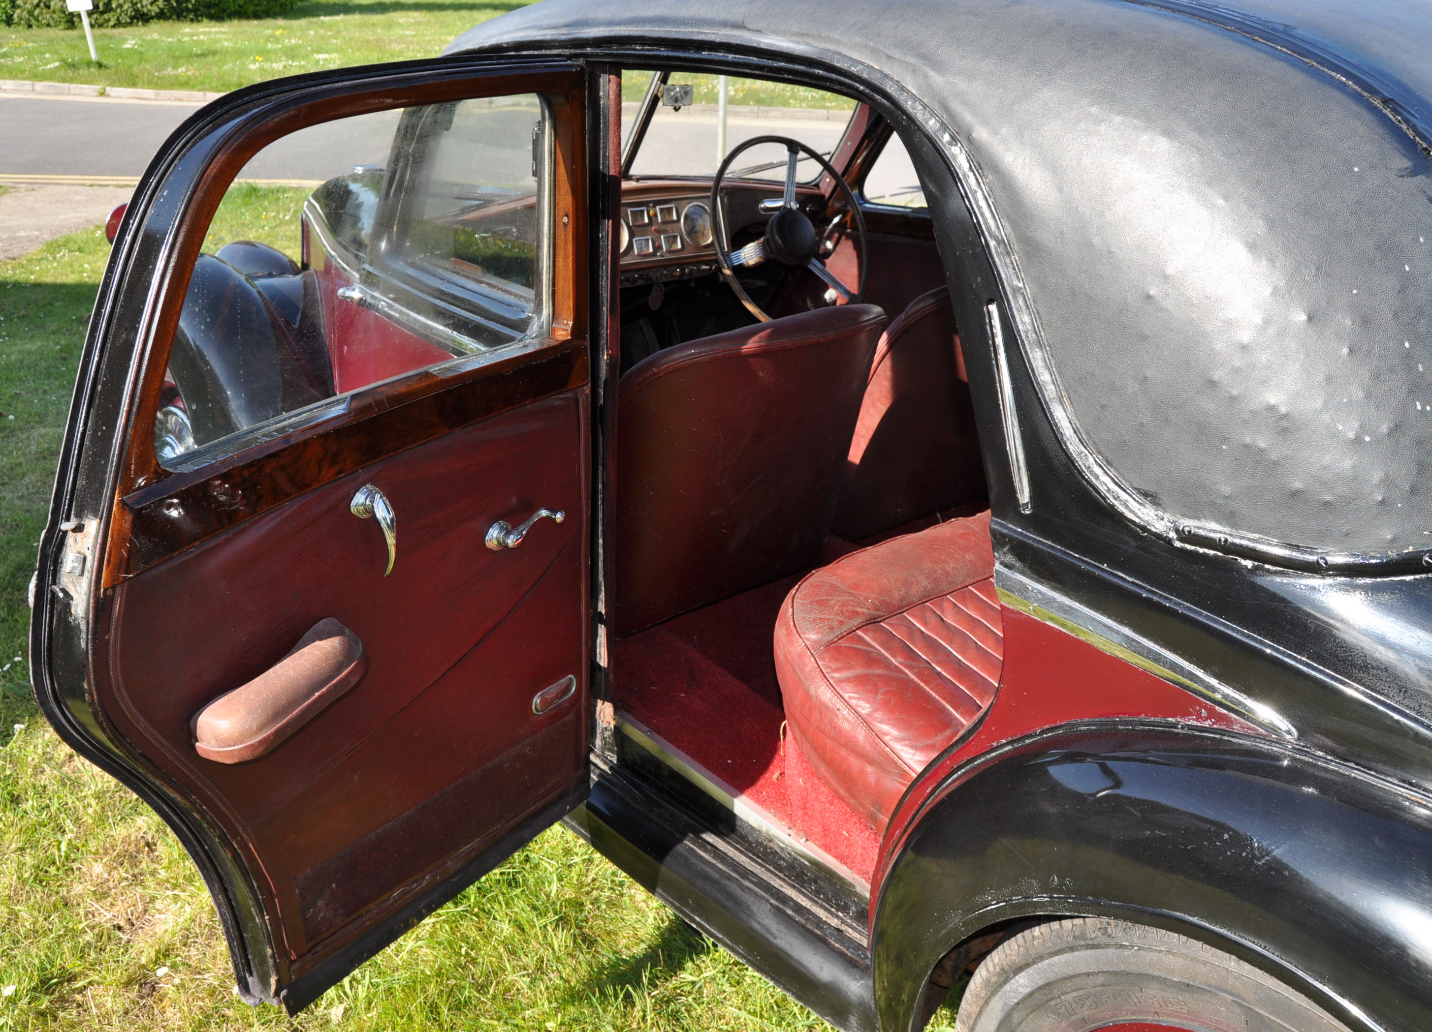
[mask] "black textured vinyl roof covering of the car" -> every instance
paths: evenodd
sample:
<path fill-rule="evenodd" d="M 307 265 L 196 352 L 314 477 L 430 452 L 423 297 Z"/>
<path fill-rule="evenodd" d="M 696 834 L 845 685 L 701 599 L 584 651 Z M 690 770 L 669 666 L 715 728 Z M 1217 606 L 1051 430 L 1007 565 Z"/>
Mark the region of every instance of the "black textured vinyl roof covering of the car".
<path fill-rule="evenodd" d="M 546 0 L 451 50 L 663 40 L 928 109 L 1045 405 L 1126 514 L 1432 548 L 1432 4 Z"/>

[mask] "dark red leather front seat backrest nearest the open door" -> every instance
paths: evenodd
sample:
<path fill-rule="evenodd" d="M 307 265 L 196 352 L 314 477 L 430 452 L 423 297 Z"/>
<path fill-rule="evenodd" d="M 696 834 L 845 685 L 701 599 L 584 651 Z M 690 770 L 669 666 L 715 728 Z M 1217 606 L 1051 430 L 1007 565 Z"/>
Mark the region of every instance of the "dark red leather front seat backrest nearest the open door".
<path fill-rule="evenodd" d="M 839 305 L 660 351 L 617 402 L 616 633 L 821 561 L 885 328 Z"/>

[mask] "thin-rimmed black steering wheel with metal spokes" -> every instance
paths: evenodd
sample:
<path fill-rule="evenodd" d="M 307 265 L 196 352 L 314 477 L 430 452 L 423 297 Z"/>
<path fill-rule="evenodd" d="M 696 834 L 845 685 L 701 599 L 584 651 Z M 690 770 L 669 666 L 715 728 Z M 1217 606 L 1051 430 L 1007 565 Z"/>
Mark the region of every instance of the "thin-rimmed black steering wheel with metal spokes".
<path fill-rule="evenodd" d="M 740 250 L 733 252 L 730 250 L 730 233 L 726 230 L 726 209 L 720 203 L 720 185 L 726 177 L 726 169 L 730 167 L 730 163 L 736 160 L 739 155 L 759 143 L 780 143 L 785 146 L 785 193 L 780 198 L 780 208 L 766 223 L 766 235 L 759 240 L 752 240 Z M 855 215 L 855 240 L 861 253 L 861 282 L 853 291 L 842 283 L 841 279 L 831 272 L 821 259 L 822 246 L 831 239 L 831 233 L 836 229 L 836 226 L 845 220 L 845 216 L 836 216 L 832 219 L 831 225 L 825 228 L 825 232 L 818 233 L 815 226 L 811 225 L 811 219 L 796 205 L 796 162 L 800 155 L 813 157 L 821 163 L 821 167 L 825 169 L 826 175 L 831 176 L 841 188 L 841 193 L 845 195 L 845 202 L 851 206 L 851 212 Z M 846 302 L 858 305 L 861 303 L 861 298 L 865 296 L 865 278 L 869 271 L 869 262 L 865 261 L 865 216 L 861 213 L 861 206 L 855 202 L 855 193 L 851 190 L 849 183 L 845 182 L 839 172 L 831 167 L 831 162 L 825 160 L 825 157 L 800 140 L 793 140 L 789 136 L 755 136 L 745 143 L 737 145 L 729 155 L 726 155 L 726 160 L 722 162 L 720 167 L 716 170 L 716 179 L 712 180 L 712 213 L 716 219 L 716 262 L 720 265 L 720 275 L 726 279 L 730 289 L 735 291 L 740 303 L 746 306 L 746 311 L 762 322 L 770 322 L 770 316 L 762 312 L 760 306 L 752 301 L 742 288 L 740 281 L 736 279 L 736 266 L 743 265 L 749 269 L 763 262 L 779 262 L 789 266 L 803 265 L 819 276 L 832 291 L 845 298 Z"/>

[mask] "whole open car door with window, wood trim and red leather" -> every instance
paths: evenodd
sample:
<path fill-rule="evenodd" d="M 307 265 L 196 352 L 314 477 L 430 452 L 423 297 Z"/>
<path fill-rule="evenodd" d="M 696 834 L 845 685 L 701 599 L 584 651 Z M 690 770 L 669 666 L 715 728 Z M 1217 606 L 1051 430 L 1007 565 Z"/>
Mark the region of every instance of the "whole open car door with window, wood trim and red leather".
<path fill-rule="evenodd" d="M 251 1002 L 305 1006 L 586 797 L 587 74 L 241 90 L 125 215 L 32 668 L 198 862 Z"/>

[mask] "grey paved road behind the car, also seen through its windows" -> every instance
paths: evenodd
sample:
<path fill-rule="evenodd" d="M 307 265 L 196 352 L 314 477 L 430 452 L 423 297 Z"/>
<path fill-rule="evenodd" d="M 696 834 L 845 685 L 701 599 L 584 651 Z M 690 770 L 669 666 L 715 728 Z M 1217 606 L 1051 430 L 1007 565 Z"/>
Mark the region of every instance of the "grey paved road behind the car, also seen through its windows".
<path fill-rule="evenodd" d="M 106 100 L 103 97 L 27 97 L 0 94 L 0 175 L 137 176 L 165 139 L 199 104 Z M 324 180 L 354 165 L 381 165 L 397 112 L 305 129 L 266 147 L 249 162 L 242 179 Z M 793 136 L 829 150 L 843 122 L 732 117 L 727 143 L 752 136 Z M 749 152 L 739 163 L 779 157 Z M 904 159 L 904 155 L 901 155 Z M 716 119 L 696 112 L 660 112 L 637 157 L 639 173 L 712 175 L 716 170 Z M 882 179 L 915 183 L 909 160 L 888 163 Z M 779 173 L 772 173 L 779 175 Z"/>

